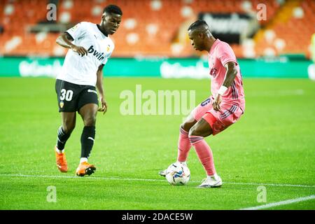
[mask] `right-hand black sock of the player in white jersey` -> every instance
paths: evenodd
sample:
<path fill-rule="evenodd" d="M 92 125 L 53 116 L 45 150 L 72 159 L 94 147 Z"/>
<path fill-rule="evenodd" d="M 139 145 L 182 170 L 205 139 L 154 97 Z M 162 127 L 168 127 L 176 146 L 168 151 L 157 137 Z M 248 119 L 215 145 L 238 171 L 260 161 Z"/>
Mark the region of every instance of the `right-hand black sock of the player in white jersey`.
<path fill-rule="evenodd" d="M 95 126 L 85 126 L 81 134 L 81 158 L 89 158 L 95 138 Z"/>

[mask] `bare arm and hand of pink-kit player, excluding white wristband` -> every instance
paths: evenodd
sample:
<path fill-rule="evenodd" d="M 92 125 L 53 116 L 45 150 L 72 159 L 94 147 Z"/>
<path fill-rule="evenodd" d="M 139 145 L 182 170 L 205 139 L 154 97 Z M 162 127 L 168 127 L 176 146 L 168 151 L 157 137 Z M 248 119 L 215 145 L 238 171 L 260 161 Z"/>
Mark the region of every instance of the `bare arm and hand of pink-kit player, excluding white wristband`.
<path fill-rule="evenodd" d="M 237 69 L 235 68 L 235 62 L 228 62 L 225 64 L 225 78 L 223 80 L 223 88 L 225 87 L 226 89 L 232 85 L 235 77 L 237 76 Z M 216 98 L 213 102 L 214 110 L 215 111 L 220 111 L 221 107 L 220 104 L 222 102 L 222 94 L 220 92 L 216 95 Z"/>

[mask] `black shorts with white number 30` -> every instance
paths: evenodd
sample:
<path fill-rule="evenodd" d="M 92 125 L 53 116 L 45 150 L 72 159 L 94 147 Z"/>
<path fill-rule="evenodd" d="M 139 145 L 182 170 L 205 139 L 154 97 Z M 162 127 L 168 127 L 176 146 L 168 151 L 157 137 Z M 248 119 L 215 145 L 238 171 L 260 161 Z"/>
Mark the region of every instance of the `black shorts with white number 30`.
<path fill-rule="evenodd" d="M 59 112 L 76 112 L 85 104 L 99 105 L 97 90 L 92 85 L 76 85 L 57 79 L 55 90 Z"/>

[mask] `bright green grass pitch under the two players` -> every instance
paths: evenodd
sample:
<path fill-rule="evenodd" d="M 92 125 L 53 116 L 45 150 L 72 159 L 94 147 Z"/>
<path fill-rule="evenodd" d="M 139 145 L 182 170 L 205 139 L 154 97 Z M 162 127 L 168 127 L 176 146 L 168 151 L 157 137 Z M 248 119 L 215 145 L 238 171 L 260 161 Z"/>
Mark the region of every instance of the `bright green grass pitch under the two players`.
<path fill-rule="evenodd" d="M 243 209 L 315 195 L 315 83 L 307 79 L 244 79 L 246 112 L 207 142 L 223 187 L 195 188 L 205 177 L 190 151 L 187 186 L 170 186 L 158 171 L 176 160 L 183 116 L 122 116 L 120 92 L 196 90 L 209 80 L 105 78 L 109 110 L 97 116 L 90 157 L 97 171 L 76 177 L 83 123 L 66 144 L 69 172 L 55 166 L 60 125 L 55 80 L 0 78 L 0 209 Z M 57 202 L 48 202 L 55 186 Z M 258 202 L 264 186 L 267 202 Z M 315 209 L 315 200 L 269 209 Z"/>

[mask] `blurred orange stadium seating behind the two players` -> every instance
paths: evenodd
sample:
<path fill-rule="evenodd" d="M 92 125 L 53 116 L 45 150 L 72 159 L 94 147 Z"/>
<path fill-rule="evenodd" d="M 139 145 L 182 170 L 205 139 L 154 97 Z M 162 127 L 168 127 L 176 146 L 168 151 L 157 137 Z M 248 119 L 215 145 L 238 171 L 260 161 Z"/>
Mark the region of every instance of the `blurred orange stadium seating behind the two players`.
<path fill-rule="evenodd" d="M 0 0 L 0 53 L 62 56 L 66 50 L 55 44 L 59 32 L 81 21 L 99 23 L 104 6 L 114 3 L 124 14 L 112 36 L 114 57 L 188 57 L 196 52 L 186 29 L 198 13 L 257 12 L 260 2 L 267 6 L 267 20 L 259 21 L 253 38 L 232 44 L 237 57 L 309 55 L 315 31 L 313 0 Z M 57 22 L 46 19 L 49 3 L 57 5 Z"/>

